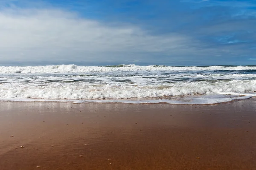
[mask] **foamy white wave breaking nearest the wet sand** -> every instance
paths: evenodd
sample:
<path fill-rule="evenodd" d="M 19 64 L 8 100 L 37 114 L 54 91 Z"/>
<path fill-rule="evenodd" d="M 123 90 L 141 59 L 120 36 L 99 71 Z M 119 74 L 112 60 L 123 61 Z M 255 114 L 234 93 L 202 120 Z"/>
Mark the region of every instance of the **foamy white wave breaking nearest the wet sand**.
<path fill-rule="evenodd" d="M 3 83 L 0 98 L 34 99 L 131 99 L 167 96 L 230 94 L 255 96 L 256 80 L 177 82 L 163 85 L 61 83 Z"/>

